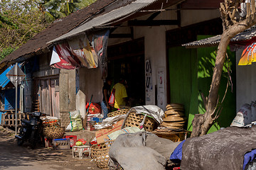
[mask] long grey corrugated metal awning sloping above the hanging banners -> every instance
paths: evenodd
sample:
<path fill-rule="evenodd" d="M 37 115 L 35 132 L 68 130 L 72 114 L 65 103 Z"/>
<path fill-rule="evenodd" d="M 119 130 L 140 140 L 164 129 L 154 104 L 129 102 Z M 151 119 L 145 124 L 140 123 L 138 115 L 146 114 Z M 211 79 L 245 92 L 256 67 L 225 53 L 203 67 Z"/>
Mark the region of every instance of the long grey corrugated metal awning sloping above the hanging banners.
<path fill-rule="evenodd" d="M 153 4 L 155 1 L 158 1 L 158 0 L 133 1 L 131 4 L 128 4 L 127 6 L 122 6 L 121 8 L 114 9 L 113 11 L 110 11 L 109 13 L 105 13 L 102 16 L 93 18 L 91 21 L 88 21 L 87 23 L 83 24 L 82 26 L 79 26 L 78 28 L 71 30 L 69 33 L 62 35 L 59 38 L 55 38 L 54 40 L 51 40 L 50 42 L 64 40 L 66 38 L 73 37 L 74 35 L 83 33 L 83 32 L 85 32 L 85 30 L 90 30 L 96 26 L 101 26 L 102 24 L 109 23 L 110 21 L 114 21 L 118 18 L 128 16 L 131 13 L 137 12 L 146 6 Z M 50 43 L 50 42 L 48 42 L 48 43 Z"/>

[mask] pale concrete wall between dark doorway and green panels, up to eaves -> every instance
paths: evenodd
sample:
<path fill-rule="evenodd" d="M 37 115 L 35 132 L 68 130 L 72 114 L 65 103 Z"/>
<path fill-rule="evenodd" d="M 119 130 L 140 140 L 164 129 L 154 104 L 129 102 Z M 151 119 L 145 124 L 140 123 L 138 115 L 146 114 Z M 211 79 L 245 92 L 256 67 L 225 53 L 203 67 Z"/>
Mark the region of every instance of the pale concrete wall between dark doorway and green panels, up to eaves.
<path fill-rule="evenodd" d="M 176 8 L 172 6 L 171 8 Z M 150 15 L 149 15 L 150 16 Z M 149 16 L 143 16 L 138 18 L 138 20 L 145 20 Z M 182 10 L 181 11 L 181 26 L 188 26 L 194 23 L 199 23 L 203 21 L 208 21 L 213 18 L 220 17 L 220 12 L 216 10 Z M 170 19 L 175 20 L 177 18 L 176 11 L 164 11 L 159 16 L 156 16 L 155 20 Z M 157 27 L 134 27 L 134 39 L 143 38 L 145 42 L 145 60 L 150 60 L 151 62 L 151 74 L 153 78 L 153 91 L 146 92 L 146 96 L 150 96 L 151 100 L 146 100 L 146 105 L 155 104 L 155 92 L 157 84 L 157 70 L 159 68 L 164 69 L 165 79 L 164 79 L 164 104 L 166 106 L 167 95 L 166 77 L 169 72 L 166 70 L 166 30 L 176 29 L 178 26 L 157 26 Z M 114 33 L 130 33 L 129 28 L 118 28 Z M 110 39 L 109 45 L 114 45 L 120 42 L 129 41 L 129 38 L 123 39 Z M 145 98 L 146 98 L 145 96 Z M 161 107 L 163 108 L 163 107 Z M 163 108 L 165 110 L 165 107 Z"/>

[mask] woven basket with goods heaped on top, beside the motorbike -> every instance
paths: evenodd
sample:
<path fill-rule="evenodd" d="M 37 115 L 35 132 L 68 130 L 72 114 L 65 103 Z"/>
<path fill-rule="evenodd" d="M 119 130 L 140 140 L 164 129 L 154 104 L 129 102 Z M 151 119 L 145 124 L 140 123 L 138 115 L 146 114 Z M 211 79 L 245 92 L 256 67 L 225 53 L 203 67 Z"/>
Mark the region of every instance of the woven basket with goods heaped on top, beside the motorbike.
<path fill-rule="evenodd" d="M 65 127 L 60 127 L 59 120 L 45 119 L 43 120 L 43 135 L 48 139 L 63 138 Z"/>

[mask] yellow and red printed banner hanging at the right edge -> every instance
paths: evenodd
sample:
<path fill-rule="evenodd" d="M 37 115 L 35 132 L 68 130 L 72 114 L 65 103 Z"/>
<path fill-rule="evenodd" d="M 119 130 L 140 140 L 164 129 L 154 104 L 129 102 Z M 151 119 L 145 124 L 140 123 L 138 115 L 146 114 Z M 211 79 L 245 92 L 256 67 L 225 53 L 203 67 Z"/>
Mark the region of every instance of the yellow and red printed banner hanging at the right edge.
<path fill-rule="evenodd" d="M 256 62 L 256 42 L 245 47 L 238 65 L 250 65 L 252 62 Z"/>

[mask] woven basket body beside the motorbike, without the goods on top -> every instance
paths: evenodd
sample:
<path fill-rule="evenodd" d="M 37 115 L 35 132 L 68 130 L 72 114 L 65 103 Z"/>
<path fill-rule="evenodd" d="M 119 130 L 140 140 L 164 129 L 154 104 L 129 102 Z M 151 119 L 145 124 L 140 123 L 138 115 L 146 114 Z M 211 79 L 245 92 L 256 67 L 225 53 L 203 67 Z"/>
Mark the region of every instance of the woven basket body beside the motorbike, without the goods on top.
<path fill-rule="evenodd" d="M 48 139 L 59 139 L 63 138 L 65 133 L 65 127 L 45 127 L 43 128 L 43 135 L 46 136 Z"/>

